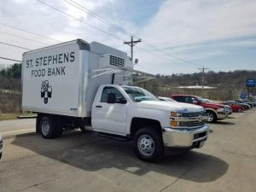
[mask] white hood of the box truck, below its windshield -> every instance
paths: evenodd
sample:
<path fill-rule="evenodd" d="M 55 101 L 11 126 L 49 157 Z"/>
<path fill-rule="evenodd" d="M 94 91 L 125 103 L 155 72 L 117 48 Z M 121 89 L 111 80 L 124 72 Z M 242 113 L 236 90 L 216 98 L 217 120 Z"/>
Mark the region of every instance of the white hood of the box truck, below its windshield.
<path fill-rule="evenodd" d="M 137 102 L 138 108 L 150 108 L 165 111 L 186 111 L 186 112 L 200 112 L 204 111 L 201 106 L 183 103 L 183 102 L 162 102 L 162 101 L 142 101 Z"/>

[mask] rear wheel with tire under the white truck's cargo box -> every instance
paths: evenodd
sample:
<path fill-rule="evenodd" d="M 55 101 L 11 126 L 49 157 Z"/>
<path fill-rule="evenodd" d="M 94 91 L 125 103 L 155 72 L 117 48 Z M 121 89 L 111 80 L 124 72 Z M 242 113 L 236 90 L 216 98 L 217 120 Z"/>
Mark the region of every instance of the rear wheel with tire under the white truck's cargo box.
<path fill-rule="evenodd" d="M 55 137 L 55 123 L 52 117 L 43 117 L 40 120 L 39 131 L 44 138 Z"/>

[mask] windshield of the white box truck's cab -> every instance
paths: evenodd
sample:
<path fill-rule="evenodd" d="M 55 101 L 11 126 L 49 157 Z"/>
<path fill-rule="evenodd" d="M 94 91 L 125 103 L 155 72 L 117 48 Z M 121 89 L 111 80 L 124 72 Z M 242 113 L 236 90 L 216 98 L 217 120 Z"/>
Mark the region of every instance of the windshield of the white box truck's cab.
<path fill-rule="evenodd" d="M 160 101 L 156 96 L 143 88 L 124 86 L 123 89 L 131 97 L 133 102 Z"/>

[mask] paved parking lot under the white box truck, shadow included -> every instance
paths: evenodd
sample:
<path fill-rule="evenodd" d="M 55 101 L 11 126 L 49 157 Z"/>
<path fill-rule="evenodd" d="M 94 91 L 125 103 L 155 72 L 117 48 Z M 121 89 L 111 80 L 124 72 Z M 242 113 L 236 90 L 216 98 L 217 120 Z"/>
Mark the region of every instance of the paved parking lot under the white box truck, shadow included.
<path fill-rule="evenodd" d="M 256 109 L 211 124 L 203 148 L 156 164 L 137 159 L 131 143 L 96 133 L 8 137 L 0 191 L 256 191 Z M 19 124 L 16 120 L 14 124 Z M 32 129 L 29 127 L 28 129 Z"/>

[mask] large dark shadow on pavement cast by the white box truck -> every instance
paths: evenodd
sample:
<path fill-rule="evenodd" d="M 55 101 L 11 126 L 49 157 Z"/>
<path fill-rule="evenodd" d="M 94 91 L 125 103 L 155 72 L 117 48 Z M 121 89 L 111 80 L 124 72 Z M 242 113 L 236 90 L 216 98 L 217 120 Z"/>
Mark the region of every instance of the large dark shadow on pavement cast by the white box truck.
<path fill-rule="evenodd" d="M 197 183 L 206 183 L 223 176 L 229 167 L 224 160 L 194 150 L 181 155 L 166 156 L 164 160 L 155 164 L 146 163 L 137 159 L 131 142 L 116 142 L 98 137 L 92 132 L 85 134 L 81 134 L 80 131 L 67 132 L 57 139 L 44 139 L 38 135 L 16 137 L 12 144 L 86 172 L 116 168 L 137 176 L 157 172 L 171 177 L 183 177 Z"/>

